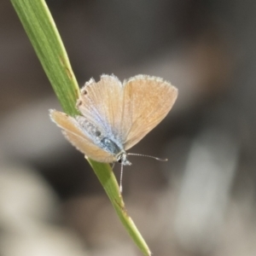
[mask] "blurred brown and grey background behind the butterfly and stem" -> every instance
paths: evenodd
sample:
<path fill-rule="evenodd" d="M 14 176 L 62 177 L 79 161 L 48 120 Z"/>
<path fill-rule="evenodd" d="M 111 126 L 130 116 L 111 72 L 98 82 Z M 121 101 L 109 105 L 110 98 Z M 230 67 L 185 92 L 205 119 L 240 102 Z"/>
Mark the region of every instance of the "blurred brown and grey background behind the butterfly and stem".
<path fill-rule="evenodd" d="M 256 254 L 256 2 L 46 1 L 80 86 L 139 73 L 176 85 L 131 152 L 126 209 L 159 256 Z M 20 20 L 0 3 L 0 255 L 141 255 L 61 110 Z M 115 166 L 119 179 L 120 166 Z"/>

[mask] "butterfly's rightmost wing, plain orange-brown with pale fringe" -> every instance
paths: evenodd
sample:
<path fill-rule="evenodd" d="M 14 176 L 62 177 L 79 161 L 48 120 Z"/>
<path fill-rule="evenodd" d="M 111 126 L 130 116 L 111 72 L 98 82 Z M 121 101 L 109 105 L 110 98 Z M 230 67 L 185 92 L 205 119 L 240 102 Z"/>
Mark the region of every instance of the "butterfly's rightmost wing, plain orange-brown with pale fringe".
<path fill-rule="evenodd" d="M 138 75 L 124 82 L 124 148 L 131 148 L 160 123 L 177 98 L 177 89 L 160 78 Z"/>

